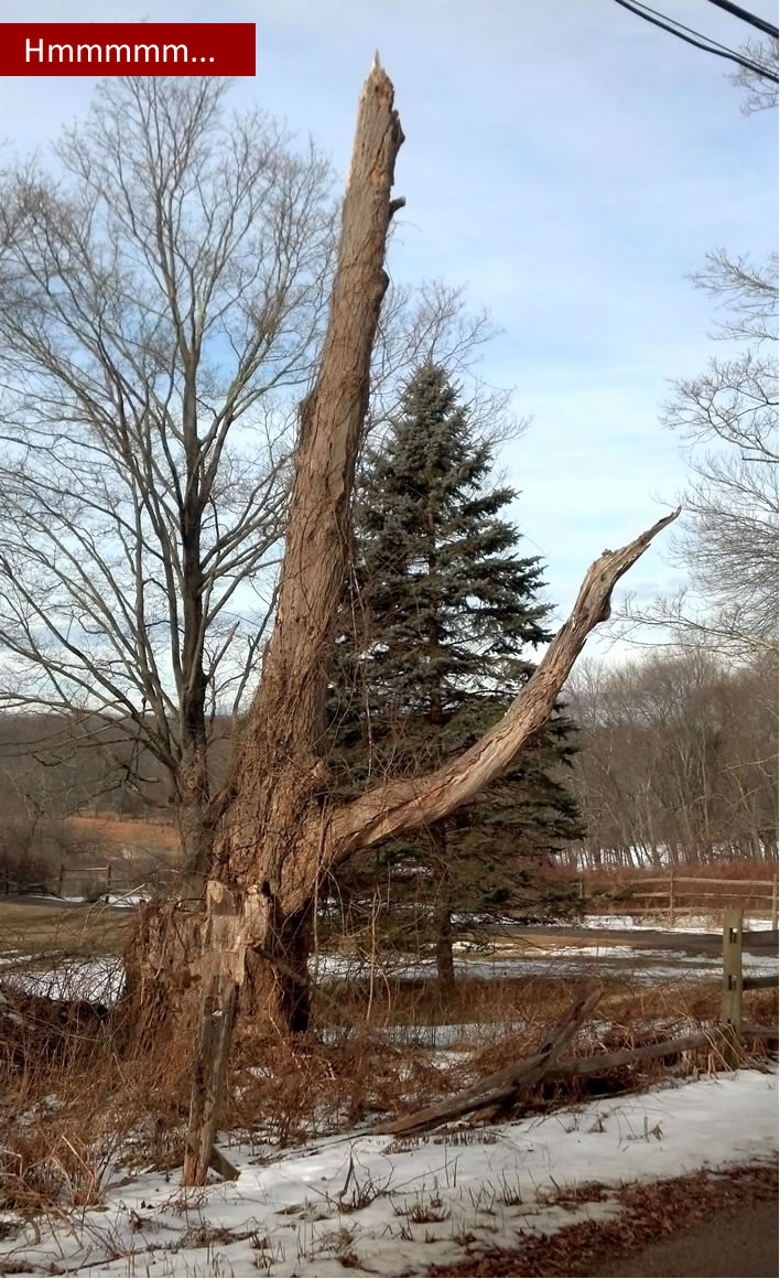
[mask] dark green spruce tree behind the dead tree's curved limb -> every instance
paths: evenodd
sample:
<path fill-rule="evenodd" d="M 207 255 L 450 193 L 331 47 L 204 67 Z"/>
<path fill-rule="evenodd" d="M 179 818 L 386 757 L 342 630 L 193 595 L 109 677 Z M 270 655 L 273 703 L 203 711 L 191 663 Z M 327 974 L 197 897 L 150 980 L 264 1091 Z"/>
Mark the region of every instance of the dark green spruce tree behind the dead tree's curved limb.
<path fill-rule="evenodd" d="M 329 705 L 343 796 L 458 755 L 504 714 L 533 670 L 528 650 L 550 638 L 541 563 L 517 553 L 519 533 L 501 515 L 515 494 L 490 485 L 491 460 L 446 372 L 423 365 L 357 490 Z M 508 908 L 532 876 L 533 854 L 582 834 L 555 776 L 573 753 L 572 728 L 559 712 L 473 803 L 413 843 L 380 851 L 396 885 L 423 885 L 435 902 L 445 987 L 454 982 L 453 913 Z"/>

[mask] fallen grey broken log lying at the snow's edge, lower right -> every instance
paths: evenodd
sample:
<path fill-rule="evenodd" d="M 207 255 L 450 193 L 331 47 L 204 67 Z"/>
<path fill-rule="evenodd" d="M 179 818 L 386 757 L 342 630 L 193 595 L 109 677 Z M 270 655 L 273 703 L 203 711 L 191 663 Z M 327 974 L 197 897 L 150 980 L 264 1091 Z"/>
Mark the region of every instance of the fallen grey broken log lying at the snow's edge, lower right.
<path fill-rule="evenodd" d="M 490 1110 L 495 1118 L 496 1108 L 510 1109 L 524 1092 L 528 1092 L 538 1081 L 547 1074 L 563 1050 L 572 1042 L 584 1019 L 593 1012 L 596 1004 L 604 994 L 602 986 L 596 986 L 582 995 L 564 1018 L 555 1026 L 540 1051 L 533 1056 L 519 1062 L 517 1065 L 508 1065 L 503 1071 L 496 1071 L 486 1079 L 459 1092 L 445 1101 L 437 1101 L 414 1114 L 403 1115 L 391 1123 L 378 1124 L 371 1131 L 375 1133 L 393 1133 L 394 1136 L 407 1136 L 414 1132 L 426 1132 L 428 1128 L 437 1128 L 450 1119 L 459 1119 L 462 1115 L 474 1111 Z"/>

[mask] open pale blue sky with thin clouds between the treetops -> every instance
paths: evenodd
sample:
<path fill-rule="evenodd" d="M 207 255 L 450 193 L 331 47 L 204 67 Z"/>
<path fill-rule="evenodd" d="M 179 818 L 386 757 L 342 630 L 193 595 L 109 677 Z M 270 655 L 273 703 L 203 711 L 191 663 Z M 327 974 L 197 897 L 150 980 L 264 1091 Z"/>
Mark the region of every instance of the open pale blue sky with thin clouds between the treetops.
<path fill-rule="evenodd" d="M 776 6 L 751 0 L 776 22 Z M 659 0 L 733 47 L 749 29 L 708 0 Z M 1 22 L 253 22 L 254 78 L 233 92 L 345 177 L 375 50 L 407 141 L 390 269 L 463 284 L 500 335 L 480 376 L 513 389 L 529 430 L 500 467 L 511 518 L 547 564 L 563 619 L 588 564 L 674 505 L 679 441 L 659 413 L 670 382 L 714 353 L 712 302 L 689 274 L 708 249 L 776 244 L 776 115 L 740 113 L 729 64 L 612 0 L 3 0 Z M 90 77 L 8 77 L 4 136 L 46 146 L 83 115 Z M 625 579 L 674 590 L 653 546 Z M 604 642 L 602 642 L 604 647 Z"/>

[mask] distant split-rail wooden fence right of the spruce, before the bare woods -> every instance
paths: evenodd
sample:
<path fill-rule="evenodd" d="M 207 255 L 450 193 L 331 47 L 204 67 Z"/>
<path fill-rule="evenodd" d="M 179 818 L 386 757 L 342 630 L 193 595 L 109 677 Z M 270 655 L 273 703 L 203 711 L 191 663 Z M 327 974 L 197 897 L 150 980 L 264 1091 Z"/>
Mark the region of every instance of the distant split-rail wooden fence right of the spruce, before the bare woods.
<path fill-rule="evenodd" d="M 587 899 L 588 876 L 581 879 L 581 894 Z M 593 881 L 591 880 L 591 884 Z M 652 886 L 646 886 L 652 885 Z M 703 890 L 702 890 L 703 886 Z M 712 891 L 715 889 L 715 891 Z M 685 899 L 685 900 L 683 900 Z M 634 900 L 653 900 L 653 906 L 634 906 Z M 761 903 L 753 906 L 753 902 Z M 717 904 L 716 904 L 717 903 Z M 610 897 L 610 909 L 624 909 L 627 914 L 664 916 L 671 927 L 682 914 L 692 911 L 720 912 L 731 908 L 734 903 L 745 916 L 770 917 L 772 929 L 777 927 L 777 872 L 766 880 L 730 880 L 703 875 L 680 875 L 670 870 L 666 875 L 642 879 L 633 884 L 620 885 L 618 893 Z"/>

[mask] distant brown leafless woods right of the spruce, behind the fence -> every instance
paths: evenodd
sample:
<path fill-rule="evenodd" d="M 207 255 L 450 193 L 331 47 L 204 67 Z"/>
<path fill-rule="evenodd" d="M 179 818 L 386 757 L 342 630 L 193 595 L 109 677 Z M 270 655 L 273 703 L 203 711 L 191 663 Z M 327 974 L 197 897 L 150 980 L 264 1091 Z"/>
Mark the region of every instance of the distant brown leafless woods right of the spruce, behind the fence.
<path fill-rule="evenodd" d="M 583 664 L 569 691 L 592 866 L 776 858 L 777 666 L 729 668 L 706 646 Z"/>

